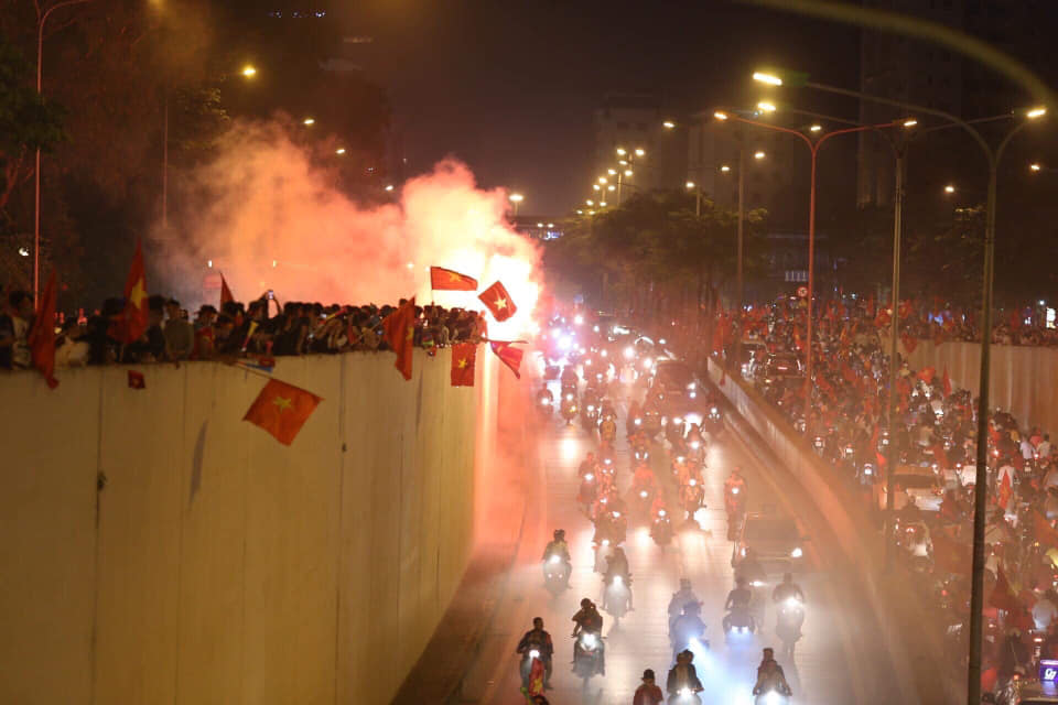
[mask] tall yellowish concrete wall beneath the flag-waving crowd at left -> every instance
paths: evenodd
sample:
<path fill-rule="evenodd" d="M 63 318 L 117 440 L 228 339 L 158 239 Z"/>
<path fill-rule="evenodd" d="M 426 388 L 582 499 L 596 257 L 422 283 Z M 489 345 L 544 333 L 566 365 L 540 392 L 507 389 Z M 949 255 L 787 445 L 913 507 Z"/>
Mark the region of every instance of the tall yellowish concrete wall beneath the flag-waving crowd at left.
<path fill-rule="evenodd" d="M 219 364 L 0 377 L 0 702 L 389 702 L 473 543 L 496 369 L 449 356 L 281 359 L 324 398 L 291 447 Z"/>

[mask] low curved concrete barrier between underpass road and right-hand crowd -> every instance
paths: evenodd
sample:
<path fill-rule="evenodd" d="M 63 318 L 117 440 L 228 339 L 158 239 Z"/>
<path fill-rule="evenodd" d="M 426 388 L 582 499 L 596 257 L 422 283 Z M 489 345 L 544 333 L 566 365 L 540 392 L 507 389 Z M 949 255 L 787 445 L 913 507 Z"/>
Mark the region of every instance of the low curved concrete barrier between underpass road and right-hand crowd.
<path fill-rule="evenodd" d="M 709 376 L 759 442 L 766 445 L 771 455 L 781 459 L 784 469 L 807 491 L 816 509 L 825 517 L 848 570 L 859 579 L 878 617 L 885 648 L 896 671 L 893 676 L 904 694 L 903 702 L 931 702 L 924 691 L 928 687 L 936 692 L 946 686 L 938 680 L 940 669 L 936 665 L 943 658 L 942 644 L 932 638 L 933 630 L 926 627 L 925 622 L 918 622 L 922 628 L 913 633 L 902 629 L 902 623 L 908 621 L 907 615 L 897 615 L 898 610 L 894 609 L 893 601 L 898 598 L 893 589 L 895 581 L 886 582 L 883 575 L 885 556 L 882 532 L 872 521 L 871 513 L 865 511 L 862 497 L 848 487 L 835 468 L 824 463 L 809 442 L 797 434 L 751 384 L 727 377 L 712 358 L 709 359 Z M 838 566 L 824 566 L 824 570 L 835 571 Z M 894 575 L 898 576 L 899 572 Z M 911 609 L 916 605 L 905 604 L 904 607 Z M 920 610 L 916 610 L 915 618 L 925 617 Z M 873 665 L 865 664 L 864 668 Z"/>

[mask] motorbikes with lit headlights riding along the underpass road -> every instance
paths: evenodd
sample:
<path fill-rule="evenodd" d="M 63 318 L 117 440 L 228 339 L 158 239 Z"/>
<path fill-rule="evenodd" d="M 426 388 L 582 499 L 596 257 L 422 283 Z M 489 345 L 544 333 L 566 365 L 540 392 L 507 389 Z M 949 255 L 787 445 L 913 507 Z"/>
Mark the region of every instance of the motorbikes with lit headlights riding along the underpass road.
<path fill-rule="evenodd" d="M 633 575 L 623 547 L 629 516 L 648 522 L 650 536 L 661 551 L 672 543 L 680 529 L 700 529 L 694 517 L 698 510 L 705 507 L 703 471 L 706 470 L 706 452 L 711 438 L 723 427 L 723 421 L 719 404 L 710 403 L 708 397 L 702 399 L 705 410 L 702 414 L 692 417 L 691 414 L 671 413 L 665 404 L 663 393 L 650 384 L 654 359 L 650 359 L 649 352 L 635 350 L 631 346 L 614 349 L 604 341 L 571 347 L 564 368 L 561 371 L 549 369 L 546 375 L 558 378 L 558 400 L 546 382 L 537 395 L 537 403 L 544 416 L 550 417 L 557 409 L 566 424 L 579 422 L 598 440 L 597 451 L 589 453 L 580 464 L 576 502 L 594 525 L 594 570 L 602 575 L 600 607 L 617 625 L 633 610 Z M 625 492 L 618 489 L 614 452 L 618 433 L 617 410 L 608 395 L 612 381 L 622 379 L 623 375 L 626 379 L 630 377 L 634 391 L 645 392 L 644 402 L 639 404 L 634 401 L 625 420 L 624 432 L 630 458 L 630 466 L 625 470 L 630 474 Z M 693 392 L 695 397 L 702 393 L 701 390 Z M 655 475 L 655 467 L 659 465 L 656 454 L 666 456 L 672 480 L 671 492 L 666 492 L 666 487 Z M 667 496 L 672 498 L 671 503 L 666 501 Z M 725 482 L 724 506 L 728 527 L 734 527 L 747 506 L 747 486 L 737 470 Z M 555 531 L 554 540 L 549 543 L 542 560 L 544 586 L 552 596 L 558 596 L 568 589 L 572 571 L 563 531 Z M 739 631 L 752 632 L 757 629 L 751 612 L 752 599 L 743 599 L 746 594 L 752 595 L 753 589 L 764 585 L 762 579 L 754 581 L 754 585 L 745 579 L 743 574 L 747 571 L 753 573 L 753 564 L 751 553 L 737 568 L 738 585 L 732 590 L 734 597 L 728 597 L 727 614 L 723 620 L 727 638 Z M 759 565 L 756 570 L 760 575 L 764 574 Z M 776 598 L 776 633 L 786 644 L 785 651 L 792 654 L 792 644 L 800 638 L 803 622 L 803 596 L 798 588 L 797 595 Z M 668 614 L 669 639 L 676 663 L 666 683 L 669 702 L 687 705 L 700 703 L 698 693 L 702 686 L 691 660 L 694 650 L 708 650 L 710 642 L 705 636 L 706 625 L 701 617 L 701 601 L 691 590 L 689 581 L 681 581 L 680 590 L 672 596 Z M 605 674 L 602 617 L 594 603 L 584 599 L 574 621 L 577 627 L 573 633 L 573 672 L 583 680 L 586 688 L 590 679 Z M 527 634 L 527 639 L 531 633 Z M 523 646 L 529 644 L 529 641 L 523 642 Z M 520 668 L 523 686 L 530 688 L 533 659 L 540 657 L 541 650 L 539 644 L 530 644 L 520 648 L 519 652 L 522 655 Z M 550 673 L 550 655 L 548 666 L 547 672 Z M 781 674 L 781 669 L 778 672 Z M 788 702 L 790 692 L 785 677 L 767 680 L 757 685 L 754 694 L 758 703 L 771 705 Z"/>

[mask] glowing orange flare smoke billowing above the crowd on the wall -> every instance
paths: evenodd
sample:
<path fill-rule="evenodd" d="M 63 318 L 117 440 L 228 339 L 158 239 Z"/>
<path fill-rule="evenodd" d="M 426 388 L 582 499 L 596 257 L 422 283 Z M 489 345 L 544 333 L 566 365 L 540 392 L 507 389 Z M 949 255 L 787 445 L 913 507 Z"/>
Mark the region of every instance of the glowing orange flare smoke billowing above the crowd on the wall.
<path fill-rule="evenodd" d="M 536 303 L 538 251 L 504 220 L 501 189 L 476 187 L 456 161 L 407 182 L 395 203 L 363 206 L 334 187 L 278 122 L 236 123 L 216 159 L 193 174 L 180 235 L 164 250 L 165 278 L 188 303 L 223 271 L 237 300 L 272 289 L 281 301 L 430 302 L 427 268 L 500 279 L 519 307 L 511 332 Z M 208 262 L 213 262 L 213 269 Z M 436 303 L 481 308 L 471 292 L 438 292 Z"/>

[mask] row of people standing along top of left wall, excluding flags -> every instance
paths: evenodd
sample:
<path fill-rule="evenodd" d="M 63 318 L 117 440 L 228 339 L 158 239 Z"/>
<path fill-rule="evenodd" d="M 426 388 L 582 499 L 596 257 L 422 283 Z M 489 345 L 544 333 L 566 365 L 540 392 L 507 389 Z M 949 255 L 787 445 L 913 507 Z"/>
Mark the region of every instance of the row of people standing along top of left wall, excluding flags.
<path fill-rule="evenodd" d="M 29 368 L 32 294 L 11 291 L 3 303 L 0 369 Z M 114 335 L 114 322 L 125 310 L 125 301 L 108 299 L 91 313 L 56 315 L 55 364 L 68 367 L 386 350 L 382 319 L 395 308 L 389 304 L 280 305 L 266 293 L 249 303 L 228 301 L 219 307 L 205 304 L 192 317 L 175 299 L 152 295 L 148 297 L 147 330 L 139 339 L 122 344 Z M 484 334 L 479 312 L 415 306 L 418 347 L 432 350 L 477 340 Z"/>

